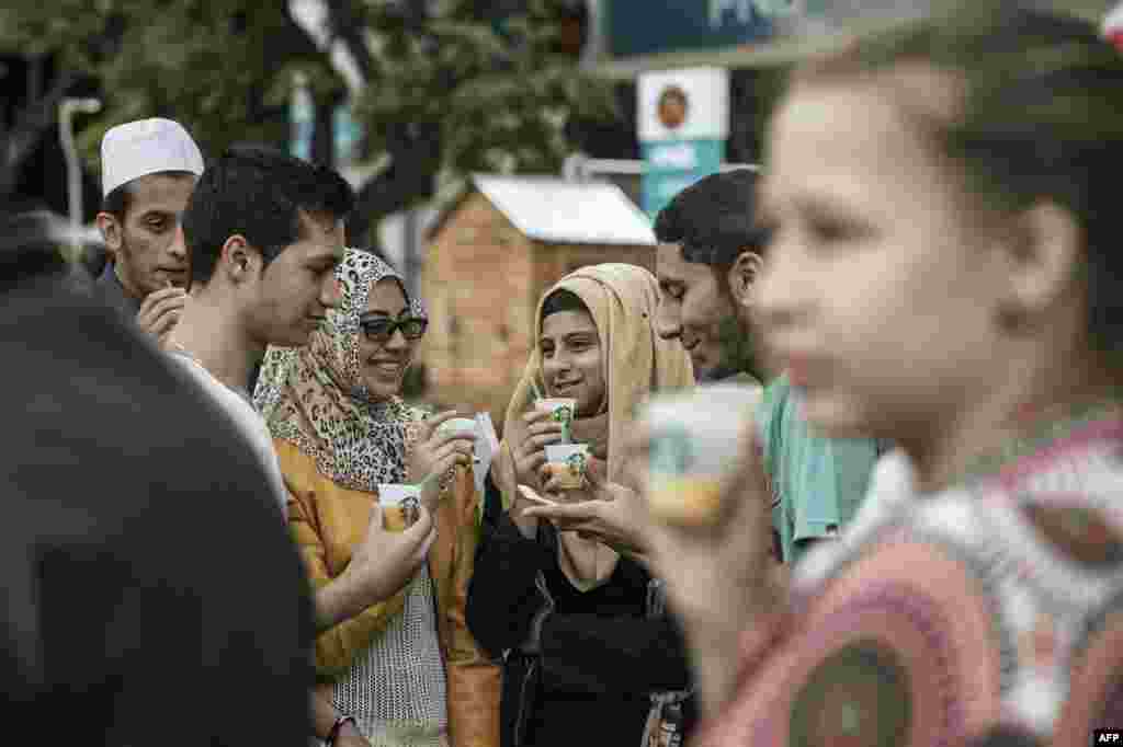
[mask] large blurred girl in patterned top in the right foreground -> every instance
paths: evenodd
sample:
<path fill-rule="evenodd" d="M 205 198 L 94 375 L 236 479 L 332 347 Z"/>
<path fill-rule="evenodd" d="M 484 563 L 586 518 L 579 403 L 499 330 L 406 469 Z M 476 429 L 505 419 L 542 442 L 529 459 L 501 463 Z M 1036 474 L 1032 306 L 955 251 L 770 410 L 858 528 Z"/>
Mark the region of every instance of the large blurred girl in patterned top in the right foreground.
<path fill-rule="evenodd" d="M 757 317 L 816 431 L 898 449 L 789 589 L 745 542 L 752 434 L 718 522 L 652 534 L 700 745 L 1087 745 L 1123 714 L 1123 59 L 946 10 L 806 63 L 770 122 Z"/>

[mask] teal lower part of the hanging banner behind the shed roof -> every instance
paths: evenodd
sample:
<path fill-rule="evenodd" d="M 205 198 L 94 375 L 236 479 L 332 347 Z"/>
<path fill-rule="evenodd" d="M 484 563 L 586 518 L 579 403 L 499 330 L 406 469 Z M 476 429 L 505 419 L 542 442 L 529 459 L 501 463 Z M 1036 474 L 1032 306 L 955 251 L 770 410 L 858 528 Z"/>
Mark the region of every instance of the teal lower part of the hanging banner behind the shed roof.
<path fill-rule="evenodd" d="M 641 202 L 652 220 L 675 195 L 704 176 L 715 174 L 725 159 L 725 140 L 667 140 L 642 144 Z"/>

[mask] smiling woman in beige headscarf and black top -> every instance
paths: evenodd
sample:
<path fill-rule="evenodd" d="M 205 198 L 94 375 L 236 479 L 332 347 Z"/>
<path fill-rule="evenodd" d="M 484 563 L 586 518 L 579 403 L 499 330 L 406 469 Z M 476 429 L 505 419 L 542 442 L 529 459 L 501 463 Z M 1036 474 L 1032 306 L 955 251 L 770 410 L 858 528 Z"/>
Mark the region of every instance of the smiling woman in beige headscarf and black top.
<path fill-rule="evenodd" d="M 679 633 L 650 609 L 643 565 L 527 517 L 533 504 L 518 490 L 541 489 L 542 449 L 560 440 L 560 426 L 533 412 L 536 391 L 576 399 L 573 440 L 590 444 L 587 469 L 627 483 L 633 408 L 652 391 L 694 382 L 682 345 L 652 331 L 658 298 L 649 271 L 608 264 L 567 275 L 539 303 L 535 350 L 487 479 L 468 590 L 468 626 L 504 662 L 504 746 L 640 745 L 652 693 L 688 686 Z"/>

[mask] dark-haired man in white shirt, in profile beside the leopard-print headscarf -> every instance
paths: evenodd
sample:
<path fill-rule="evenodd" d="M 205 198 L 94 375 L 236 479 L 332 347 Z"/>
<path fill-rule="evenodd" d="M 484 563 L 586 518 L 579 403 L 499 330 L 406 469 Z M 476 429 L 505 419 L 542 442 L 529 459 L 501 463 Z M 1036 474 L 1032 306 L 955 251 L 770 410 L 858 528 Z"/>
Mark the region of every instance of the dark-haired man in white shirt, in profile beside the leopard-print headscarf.
<path fill-rule="evenodd" d="M 268 476 L 275 524 L 289 492 L 270 431 L 247 391 L 268 344 L 303 345 L 338 304 L 350 187 L 338 174 L 268 148 L 235 148 L 199 179 L 183 214 L 192 297 L 165 341 L 171 357 L 243 428 Z M 432 542 L 426 511 L 404 534 L 387 533 L 367 507 L 351 562 L 316 592 L 317 629 L 328 629 L 391 597 L 424 561 Z M 232 560 L 232 559 L 231 559 Z M 263 625 L 268 620 L 263 619 Z M 311 679 L 308 682 L 312 684 Z M 358 741 L 354 722 L 316 707 L 316 734 Z"/>

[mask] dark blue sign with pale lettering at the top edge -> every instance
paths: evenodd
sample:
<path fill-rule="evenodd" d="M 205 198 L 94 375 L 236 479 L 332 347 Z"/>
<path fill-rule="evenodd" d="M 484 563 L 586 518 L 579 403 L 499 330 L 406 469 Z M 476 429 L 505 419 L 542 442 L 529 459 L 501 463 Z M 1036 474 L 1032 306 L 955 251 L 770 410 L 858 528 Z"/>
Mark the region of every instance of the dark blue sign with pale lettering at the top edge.
<path fill-rule="evenodd" d="M 793 0 L 608 0 L 605 37 L 614 57 L 736 47 L 767 39 Z"/>

